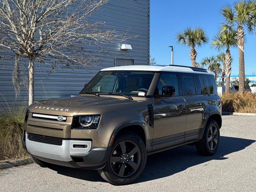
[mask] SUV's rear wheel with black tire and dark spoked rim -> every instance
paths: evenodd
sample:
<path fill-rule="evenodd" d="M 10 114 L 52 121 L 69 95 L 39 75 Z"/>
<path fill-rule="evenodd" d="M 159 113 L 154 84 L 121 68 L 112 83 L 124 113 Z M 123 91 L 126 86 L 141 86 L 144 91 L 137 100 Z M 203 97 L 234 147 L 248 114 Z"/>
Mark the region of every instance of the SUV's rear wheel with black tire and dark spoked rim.
<path fill-rule="evenodd" d="M 196 150 L 200 155 L 215 154 L 220 143 L 220 128 L 216 120 L 209 120 L 201 140 L 196 142 Z"/>

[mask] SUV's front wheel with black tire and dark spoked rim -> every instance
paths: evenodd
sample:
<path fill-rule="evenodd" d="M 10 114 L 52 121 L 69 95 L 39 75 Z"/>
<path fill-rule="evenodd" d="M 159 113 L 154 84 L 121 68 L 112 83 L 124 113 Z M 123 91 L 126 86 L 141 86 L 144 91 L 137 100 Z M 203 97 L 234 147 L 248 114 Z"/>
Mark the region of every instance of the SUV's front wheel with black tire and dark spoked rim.
<path fill-rule="evenodd" d="M 129 184 L 142 174 L 146 160 L 142 139 L 133 132 L 122 132 L 112 146 L 106 166 L 98 173 L 113 185 Z"/>

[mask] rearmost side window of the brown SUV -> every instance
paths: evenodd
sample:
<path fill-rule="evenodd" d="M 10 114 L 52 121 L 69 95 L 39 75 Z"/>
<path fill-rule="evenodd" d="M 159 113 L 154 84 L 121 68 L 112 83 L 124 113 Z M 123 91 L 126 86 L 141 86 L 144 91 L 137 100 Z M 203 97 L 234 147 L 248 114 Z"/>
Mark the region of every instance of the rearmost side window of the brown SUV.
<path fill-rule="evenodd" d="M 202 94 L 217 94 L 217 87 L 213 75 L 202 75 Z"/>

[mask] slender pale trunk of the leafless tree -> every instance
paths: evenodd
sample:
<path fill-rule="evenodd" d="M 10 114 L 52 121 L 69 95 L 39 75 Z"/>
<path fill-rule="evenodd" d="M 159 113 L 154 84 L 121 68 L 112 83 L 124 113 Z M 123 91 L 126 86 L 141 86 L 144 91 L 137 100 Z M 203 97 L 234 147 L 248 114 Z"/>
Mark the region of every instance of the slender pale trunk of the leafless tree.
<path fill-rule="evenodd" d="M 34 102 L 34 64 L 35 58 L 29 58 L 28 66 L 28 105 L 31 105 Z"/>

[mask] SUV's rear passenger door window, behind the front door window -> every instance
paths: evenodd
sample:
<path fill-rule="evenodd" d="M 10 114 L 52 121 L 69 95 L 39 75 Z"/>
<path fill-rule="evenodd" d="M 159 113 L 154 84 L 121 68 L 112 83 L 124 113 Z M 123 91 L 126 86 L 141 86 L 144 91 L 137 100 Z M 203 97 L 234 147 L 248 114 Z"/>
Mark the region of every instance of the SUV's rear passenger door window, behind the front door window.
<path fill-rule="evenodd" d="M 192 75 L 182 75 L 182 91 L 183 95 L 196 94 L 196 87 Z"/>

